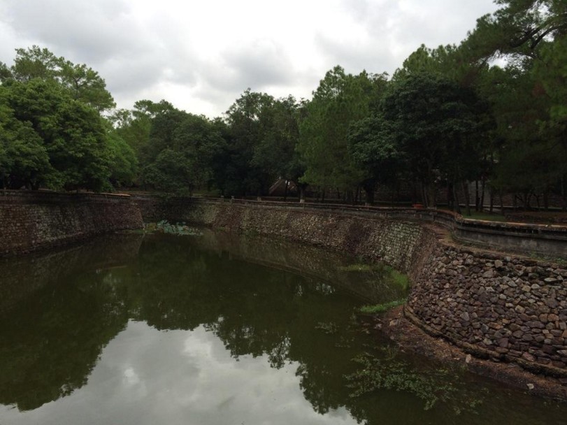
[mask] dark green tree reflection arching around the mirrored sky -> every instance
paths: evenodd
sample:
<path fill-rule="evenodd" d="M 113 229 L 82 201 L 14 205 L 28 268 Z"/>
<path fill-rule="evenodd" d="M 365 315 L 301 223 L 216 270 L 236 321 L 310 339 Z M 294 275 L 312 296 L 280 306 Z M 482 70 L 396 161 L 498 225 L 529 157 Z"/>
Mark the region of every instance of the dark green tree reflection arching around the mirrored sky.
<path fill-rule="evenodd" d="M 40 285 L 18 301 L 0 322 L 0 403 L 29 410 L 71 394 L 128 319 L 164 330 L 203 325 L 236 358 L 266 355 L 273 368 L 298 362 L 301 389 L 317 412 L 352 403 L 343 375 L 352 372 L 350 359 L 360 350 L 354 334 L 317 329 L 331 322 L 347 329 L 356 303 L 348 291 L 231 260 L 226 251 L 202 250 L 201 243 L 148 236 L 137 260 L 124 257 L 129 266 L 105 269 L 97 261 L 96 267 L 82 265 L 87 273 L 64 278 L 57 272 L 59 283 Z M 114 245 L 120 251 L 120 243 Z M 261 251 L 273 256 L 268 250 L 262 243 Z M 108 256 L 107 264 L 117 266 L 115 259 Z"/>

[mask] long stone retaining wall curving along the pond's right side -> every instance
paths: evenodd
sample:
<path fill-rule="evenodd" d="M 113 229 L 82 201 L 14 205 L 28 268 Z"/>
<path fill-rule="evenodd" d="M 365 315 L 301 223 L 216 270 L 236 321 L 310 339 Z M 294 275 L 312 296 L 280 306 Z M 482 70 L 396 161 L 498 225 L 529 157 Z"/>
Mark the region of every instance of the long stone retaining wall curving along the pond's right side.
<path fill-rule="evenodd" d="M 567 270 L 455 246 L 433 228 L 384 217 L 285 206 L 196 202 L 178 221 L 320 245 L 410 275 L 408 316 L 436 336 L 495 361 L 567 377 Z"/>

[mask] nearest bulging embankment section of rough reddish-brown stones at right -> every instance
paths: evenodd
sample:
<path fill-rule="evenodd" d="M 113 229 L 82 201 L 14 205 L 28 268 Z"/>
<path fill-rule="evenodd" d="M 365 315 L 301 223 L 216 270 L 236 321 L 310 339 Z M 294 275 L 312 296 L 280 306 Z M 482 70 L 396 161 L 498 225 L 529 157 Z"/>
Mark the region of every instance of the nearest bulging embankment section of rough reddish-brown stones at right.
<path fill-rule="evenodd" d="M 439 243 L 407 310 L 475 354 L 567 376 L 565 268 Z"/>

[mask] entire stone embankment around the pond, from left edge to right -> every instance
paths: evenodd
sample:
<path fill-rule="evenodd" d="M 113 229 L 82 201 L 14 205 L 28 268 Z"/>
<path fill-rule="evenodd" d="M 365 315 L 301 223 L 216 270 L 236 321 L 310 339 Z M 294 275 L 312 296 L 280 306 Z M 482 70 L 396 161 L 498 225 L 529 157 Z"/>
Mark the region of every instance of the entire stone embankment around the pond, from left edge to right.
<path fill-rule="evenodd" d="M 430 211 L 298 205 L 5 191 L 0 254 L 136 229 L 143 219 L 285 238 L 385 261 L 410 276 L 405 312 L 429 333 L 487 359 L 567 377 L 565 266 L 464 247 L 447 237 L 466 230 L 494 241 L 493 224 L 454 224 L 449 215 Z M 566 250 L 565 228 L 505 225 L 499 231 L 507 238 L 528 235 L 520 247 L 532 238 L 551 241 L 554 252 Z"/>

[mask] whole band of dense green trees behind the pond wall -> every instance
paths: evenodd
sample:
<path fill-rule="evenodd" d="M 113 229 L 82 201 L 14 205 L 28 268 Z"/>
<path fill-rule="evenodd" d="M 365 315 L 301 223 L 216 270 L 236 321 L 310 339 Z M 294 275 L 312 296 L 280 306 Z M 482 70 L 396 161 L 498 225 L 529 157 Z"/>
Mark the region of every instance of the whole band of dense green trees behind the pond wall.
<path fill-rule="evenodd" d="M 165 100 L 114 110 L 89 66 L 17 49 L 0 63 L 0 185 L 261 196 L 281 178 L 369 203 L 378 185 L 427 206 L 443 191 L 458 210 L 480 181 L 567 206 L 567 3 L 496 3 L 459 45 L 421 45 L 392 78 L 335 66 L 312 99 L 247 89 L 212 120 Z"/>

